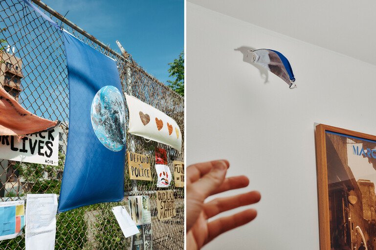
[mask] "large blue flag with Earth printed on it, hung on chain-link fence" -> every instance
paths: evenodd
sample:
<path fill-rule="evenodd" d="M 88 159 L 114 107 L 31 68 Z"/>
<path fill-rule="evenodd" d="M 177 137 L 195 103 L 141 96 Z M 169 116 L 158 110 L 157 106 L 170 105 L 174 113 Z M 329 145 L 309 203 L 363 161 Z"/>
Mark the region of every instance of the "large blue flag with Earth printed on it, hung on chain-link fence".
<path fill-rule="evenodd" d="M 59 212 L 124 197 L 125 104 L 116 62 L 62 31 L 69 132 Z"/>

